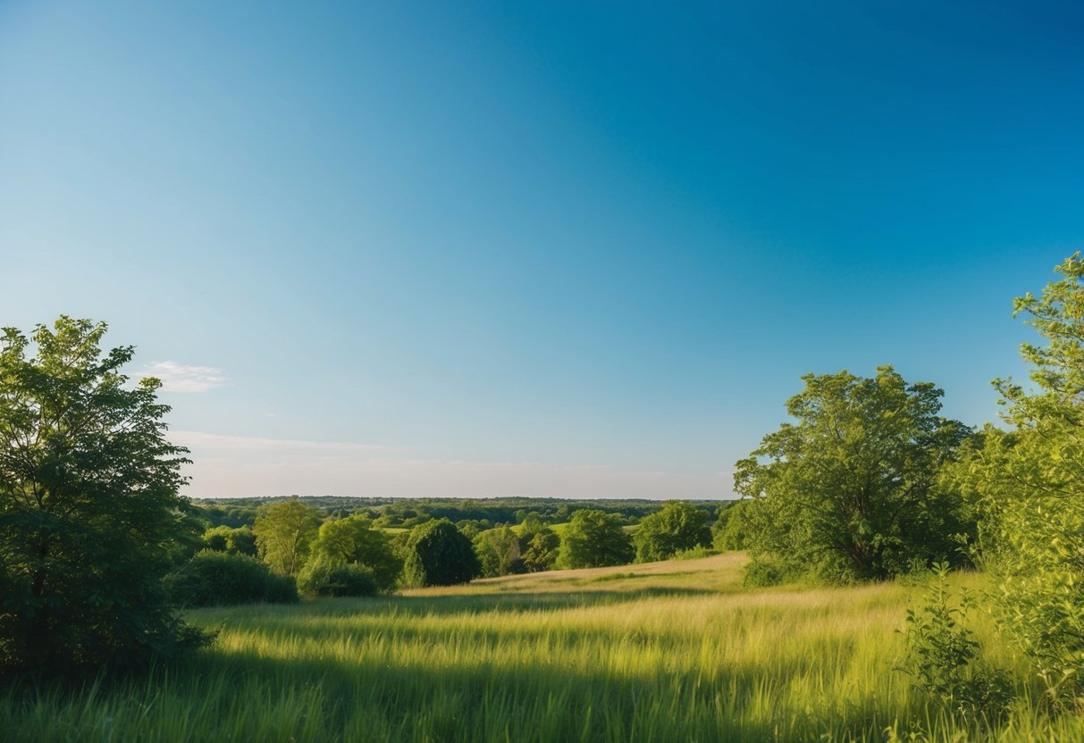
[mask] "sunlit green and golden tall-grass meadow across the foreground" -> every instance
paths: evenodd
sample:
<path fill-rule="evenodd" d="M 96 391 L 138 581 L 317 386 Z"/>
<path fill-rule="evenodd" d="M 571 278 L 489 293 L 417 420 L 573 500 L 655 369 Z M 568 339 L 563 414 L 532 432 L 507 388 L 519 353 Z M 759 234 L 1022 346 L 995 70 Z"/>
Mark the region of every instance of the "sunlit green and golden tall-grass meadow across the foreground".
<path fill-rule="evenodd" d="M 191 613 L 214 648 L 151 680 L 0 696 L 5 741 L 1084 740 L 1021 705 L 945 717 L 894 665 L 915 588 L 747 590 L 745 558 L 558 571 Z M 978 575 L 958 582 L 978 584 Z M 981 618 L 981 617 L 980 617 Z M 990 661 L 1022 665 L 993 636 Z M 908 732 L 919 729 L 932 734 Z"/>

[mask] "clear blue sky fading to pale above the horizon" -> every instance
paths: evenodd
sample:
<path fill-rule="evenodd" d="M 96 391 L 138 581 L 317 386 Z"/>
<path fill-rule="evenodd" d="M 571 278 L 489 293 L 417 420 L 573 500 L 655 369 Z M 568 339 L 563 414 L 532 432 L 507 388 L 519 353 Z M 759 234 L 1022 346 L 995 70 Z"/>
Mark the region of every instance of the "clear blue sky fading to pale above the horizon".
<path fill-rule="evenodd" d="M 0 0 L 0 324 L 191 495 L 725 497 L 799 376 L 996 415 L 1084 248 L 1075 2 Z"/>

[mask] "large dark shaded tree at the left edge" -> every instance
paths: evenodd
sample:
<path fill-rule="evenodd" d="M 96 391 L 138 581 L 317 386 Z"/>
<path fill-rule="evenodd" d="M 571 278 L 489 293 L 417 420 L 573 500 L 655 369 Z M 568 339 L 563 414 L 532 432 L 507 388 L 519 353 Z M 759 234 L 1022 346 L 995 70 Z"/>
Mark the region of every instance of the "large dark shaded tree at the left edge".
<path fill-rule="evenodd" d="M 188 451 L 105 331 L 61 316 L 0 339 L 0 672 L 133 667 L 196 638 L 162 583 Z"/>

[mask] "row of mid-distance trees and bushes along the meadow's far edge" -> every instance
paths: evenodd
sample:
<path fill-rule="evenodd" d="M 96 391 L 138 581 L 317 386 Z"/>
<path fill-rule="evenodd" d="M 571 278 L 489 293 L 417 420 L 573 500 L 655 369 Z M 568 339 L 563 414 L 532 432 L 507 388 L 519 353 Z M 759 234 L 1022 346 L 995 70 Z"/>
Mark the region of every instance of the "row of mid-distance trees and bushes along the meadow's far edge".
<path fill-rule="evenodd" d="M 294 497 L 259 506 L 251 526 L 208 527 L 190 543 L 191 559 L 167 576 L 167 584 L 185 605 L 275 600 L 271 597 L 289 601 L 298 592 L 370 596 L 479 576 L 666 560 L 711 548 L 708 510 L 670 501 L 655 504 L 654 511 L 634 534 L 619 513 L 599 508 L 571 511 L 567 522 L 556 524 L 559 534 L 535 511 L 517 524 L 485 530 L 468 519 L 430 518 L 389 533 L 366 512 L 322 516 L 315 505 Z"/>

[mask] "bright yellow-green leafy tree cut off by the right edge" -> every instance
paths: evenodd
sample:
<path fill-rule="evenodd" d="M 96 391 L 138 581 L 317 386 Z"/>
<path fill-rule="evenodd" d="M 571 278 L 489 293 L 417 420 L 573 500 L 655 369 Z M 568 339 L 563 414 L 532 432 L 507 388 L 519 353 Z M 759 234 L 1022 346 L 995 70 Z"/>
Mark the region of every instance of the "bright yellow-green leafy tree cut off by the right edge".
<path fill-rule="evenodd" d="M 1021 355 L 1034 384 L 994 380 L 1011 429 L 988 426 L 950 472 L 980 506 L 997 615 L 1059 706 L 1084 702 L 1084 260 L 1056 269 L 1015 315 L 1045 344 Z"/>

